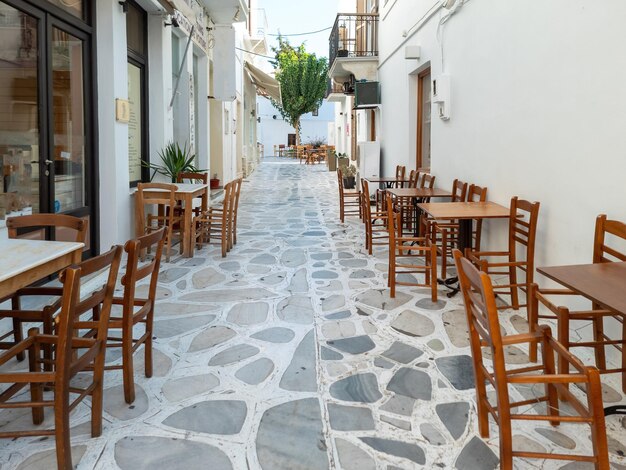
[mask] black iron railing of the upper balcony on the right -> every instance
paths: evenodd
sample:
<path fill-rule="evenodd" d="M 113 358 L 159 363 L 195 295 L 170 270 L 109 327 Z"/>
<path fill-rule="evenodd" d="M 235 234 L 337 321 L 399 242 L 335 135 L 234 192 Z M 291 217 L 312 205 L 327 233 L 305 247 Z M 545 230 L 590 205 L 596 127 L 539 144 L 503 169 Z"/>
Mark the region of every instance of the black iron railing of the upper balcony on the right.
<path fill-rule="evenodd" d="M 331 66 L 337 57 L 377 57 L 378 14 L 338 14 L 329 43 Z"/>

